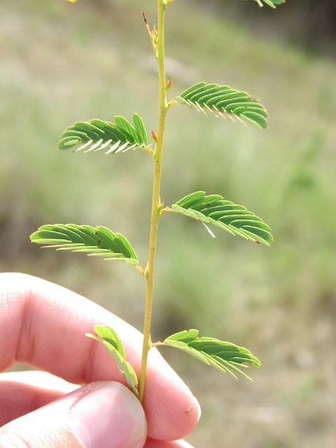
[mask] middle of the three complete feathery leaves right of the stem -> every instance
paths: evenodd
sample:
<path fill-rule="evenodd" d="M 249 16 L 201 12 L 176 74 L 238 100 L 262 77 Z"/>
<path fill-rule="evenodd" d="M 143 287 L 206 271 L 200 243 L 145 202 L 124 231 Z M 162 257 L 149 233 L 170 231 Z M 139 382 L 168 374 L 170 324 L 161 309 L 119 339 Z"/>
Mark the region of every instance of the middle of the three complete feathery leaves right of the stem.
<path fill-rule="evenodd" d="M 204 191 L 197 191 L 173 204 L 171 211 L 267 246 L 273 241 L 268 225 L 261 218 L 220 195 L 207 196 Z"/>

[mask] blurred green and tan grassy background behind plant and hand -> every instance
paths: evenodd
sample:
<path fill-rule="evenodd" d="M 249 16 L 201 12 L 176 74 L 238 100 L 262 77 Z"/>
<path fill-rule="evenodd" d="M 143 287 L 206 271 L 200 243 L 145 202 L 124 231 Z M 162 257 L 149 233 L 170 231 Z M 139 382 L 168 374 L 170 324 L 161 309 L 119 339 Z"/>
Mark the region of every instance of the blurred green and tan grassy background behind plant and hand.
<path fill-rule="evenodd" d="M 199 80 L 228 84 L 270 115 L 260 131 L 169 112 L 165 204 L 193 190 L 220 193 L 262 216 L 275 237 L 266 248 L 220 230 L 212 239 L 183 216 L 160 222 L 153 340 L 200 328 L 263 363 L 253 384 L 236 383 L 165 350 L 203 407 L 188 439 L 195 447 L 335 447 L 336 19 L 335 1 L 321 3 L 288 0 L 273 11 L 176 0 L 167 14 L 172 96 Z M 41 251 L 29 235 L 45 223 L 106 225 L 145 264 L 150 158 L 56 150 L 77 120 L 137 112 L 155 130 L 158 80 L 142 9 L 153 23 L 155 1 L 0 6 L 0 269 L 60 283 L 139 329 L 135 270 Z"/>

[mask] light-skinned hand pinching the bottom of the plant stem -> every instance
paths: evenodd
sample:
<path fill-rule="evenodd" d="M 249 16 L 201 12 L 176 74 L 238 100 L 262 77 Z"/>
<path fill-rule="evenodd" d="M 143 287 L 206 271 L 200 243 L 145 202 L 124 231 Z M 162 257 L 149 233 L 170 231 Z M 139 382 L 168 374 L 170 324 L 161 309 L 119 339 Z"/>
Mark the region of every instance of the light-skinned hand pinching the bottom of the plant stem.
<path fill-rule="evenodd" d="M 190 447 L 180 439 L 200 407 L 186 384 L 151 350 L 141 407 L 85 337 L 97 323 L 118 332 L 139 374 L 142 338 L 131 325 L 61 286 L 0 274 L 0 372 L 17 361 L 45 371 L 0 374 L 0 448 Z"/>

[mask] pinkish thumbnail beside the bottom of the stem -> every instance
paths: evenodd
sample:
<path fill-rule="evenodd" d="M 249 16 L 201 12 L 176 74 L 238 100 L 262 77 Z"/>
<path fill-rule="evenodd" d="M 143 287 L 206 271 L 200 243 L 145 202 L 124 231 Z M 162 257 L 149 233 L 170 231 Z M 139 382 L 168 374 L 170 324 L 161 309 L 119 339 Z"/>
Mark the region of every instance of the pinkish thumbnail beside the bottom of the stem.
<path fill-rule="evenodd" d="M 85 448 L 141 448 L 146 418 L 139 400 L 122 384 L 99 381 L 70 410 L 70 426 Z"/>

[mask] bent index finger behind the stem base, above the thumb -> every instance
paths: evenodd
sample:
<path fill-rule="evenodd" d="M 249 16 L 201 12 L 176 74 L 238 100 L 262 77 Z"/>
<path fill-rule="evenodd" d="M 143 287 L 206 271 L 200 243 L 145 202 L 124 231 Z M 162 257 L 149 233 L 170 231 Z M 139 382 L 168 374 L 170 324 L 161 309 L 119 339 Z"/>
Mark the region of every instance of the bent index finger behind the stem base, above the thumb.
<path fill-rule="evenodd" d="M 139 374 L 142 335 L 131 325 L 48 281 L 0 274 L 0 284 L 0 370 L 18 360 L 71 383 L 104 379 L 125 383 L 104 347 L 84 336 L 99 323 L 118 332 L 127 360 Z M 195 397 L 155 349 L 148 356 L 144 409 L 148 435 L 158 440 L 184 437 L 200 416 Z"/>

